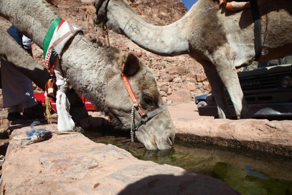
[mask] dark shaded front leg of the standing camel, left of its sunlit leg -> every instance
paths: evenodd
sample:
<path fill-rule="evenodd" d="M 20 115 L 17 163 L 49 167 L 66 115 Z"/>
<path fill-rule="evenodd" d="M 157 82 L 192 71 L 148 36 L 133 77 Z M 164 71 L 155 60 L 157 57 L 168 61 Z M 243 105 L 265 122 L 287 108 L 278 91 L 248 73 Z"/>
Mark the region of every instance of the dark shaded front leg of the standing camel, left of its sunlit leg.
<path fill-rule="evenodd" d="M 224 92 L 224 85 L 216 71 L 214 65 L 209 61 L 198 61 L 201 63 L 205 70 L 205 74 L 210 82 L 212 87 L 212 92 L 215 97 L 217 108 L 218 108 L 218 117 L 219 118 L 231 118 L 231 111 L 228 106 L 226 95 Z"/>

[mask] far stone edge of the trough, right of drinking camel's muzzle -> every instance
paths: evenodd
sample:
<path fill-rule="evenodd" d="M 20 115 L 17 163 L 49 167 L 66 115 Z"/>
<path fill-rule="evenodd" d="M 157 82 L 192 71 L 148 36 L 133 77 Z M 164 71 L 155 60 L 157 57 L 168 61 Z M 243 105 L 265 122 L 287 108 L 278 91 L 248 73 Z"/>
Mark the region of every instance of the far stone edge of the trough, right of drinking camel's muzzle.
<path fill-rule="evenodd" d="M 292 122 L 266 119 L 176 119 L 175 139 L 292 157 Z"/>

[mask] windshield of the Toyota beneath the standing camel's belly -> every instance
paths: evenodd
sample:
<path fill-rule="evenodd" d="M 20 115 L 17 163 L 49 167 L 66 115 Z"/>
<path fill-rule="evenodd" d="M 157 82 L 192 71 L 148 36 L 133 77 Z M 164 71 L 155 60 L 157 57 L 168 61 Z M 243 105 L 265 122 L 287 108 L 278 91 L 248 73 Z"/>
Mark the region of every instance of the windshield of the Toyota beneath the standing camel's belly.
<path fill-rule="evenodd" d="M 251 65 L 244 67 L 242 71 L 254 70 L 256 68 L 265 68 L 269 66 L 277 66 L 282 64 L 292 64 L 292 54 L 275 60 L 269 60 L 265 62 L 253 62 Z"/>

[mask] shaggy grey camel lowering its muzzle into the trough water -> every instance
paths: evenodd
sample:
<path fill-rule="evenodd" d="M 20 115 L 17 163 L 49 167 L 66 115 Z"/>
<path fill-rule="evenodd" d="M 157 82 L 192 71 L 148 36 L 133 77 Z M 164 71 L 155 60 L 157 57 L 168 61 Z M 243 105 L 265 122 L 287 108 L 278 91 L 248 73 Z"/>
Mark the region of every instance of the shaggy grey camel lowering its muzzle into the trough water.
<path fill-rule="evenodd" d="M 48 28 L 59 18 L 42 0 L 0 0 L 0 16 L 11 21 L 41 48 Z M 125 88 L 122 71 L 146 113 L 164 105 L 154 75 L 145 63 L 133 54 L 122 55 L 117 48 L 100 46 L 82 34 L 69 40 L 61 54 L 60 65 L 72 87 L 104 111 L 117 129 L 128 130 L 132 125 L 133 102 Z M 141 116 L 135 111 L 136 125 L 140 120 Z M 135 132 L 136 139 L 148 150 L 170 149 L 174 135 L 168 110 L 153 116 Z"/>

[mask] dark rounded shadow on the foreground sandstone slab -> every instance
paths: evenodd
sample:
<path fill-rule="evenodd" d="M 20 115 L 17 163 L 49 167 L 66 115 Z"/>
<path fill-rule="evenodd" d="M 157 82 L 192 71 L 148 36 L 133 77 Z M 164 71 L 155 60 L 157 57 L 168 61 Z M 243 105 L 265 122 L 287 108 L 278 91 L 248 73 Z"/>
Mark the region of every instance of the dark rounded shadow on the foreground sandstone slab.
<path fill-rule="evenodd" d="M 239 194 L 221 180 L 186 172 L 183 175 L 153 175 L 129 184 L 126 194 Z"/>

